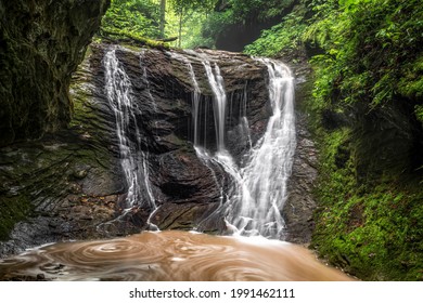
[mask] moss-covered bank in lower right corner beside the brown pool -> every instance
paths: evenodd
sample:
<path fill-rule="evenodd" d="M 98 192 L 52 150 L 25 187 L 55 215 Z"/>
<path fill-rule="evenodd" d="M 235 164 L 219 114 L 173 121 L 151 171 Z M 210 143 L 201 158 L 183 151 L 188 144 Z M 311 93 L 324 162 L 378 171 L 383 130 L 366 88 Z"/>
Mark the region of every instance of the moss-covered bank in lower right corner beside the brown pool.
<path fill-rule="evenodd" d="M 313 236 L 319 253 L 364 280 L 422 280 L 423 195 L 394 186 L 346 192 L 344 201 L 325 194 Z"/>

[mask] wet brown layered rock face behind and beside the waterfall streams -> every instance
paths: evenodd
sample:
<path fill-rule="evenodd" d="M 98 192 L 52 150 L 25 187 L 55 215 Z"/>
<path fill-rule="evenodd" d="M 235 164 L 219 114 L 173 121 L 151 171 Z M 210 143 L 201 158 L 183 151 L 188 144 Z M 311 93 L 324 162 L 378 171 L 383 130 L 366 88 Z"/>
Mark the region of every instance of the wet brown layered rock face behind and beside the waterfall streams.
<path fill-rule="evenodd" d="M 132 104 L 127 140 L 140 149 L 137 161 L 145 163 L 140 180 L 149 187 L 129 208 L 131 189 L 121 164 L 126 156 L 117 131 L 118 116 L 107 97 L 111 70 L 105 56 L 111 51 L 125 70 L 125 75 L 115 70 L 114 76 L 127 80 L 119 85 Z M 215 211 L 222 203 L 230 179 L 218 164 L 200 159 L 194 149 L 192 75 L 201 92 L 200 116 L 207 118 L 207 122 L 198 124 L 197 140 L 210 153 L 218 141 L 205 61 L 211 66 L 218 64 L 225 79 L 225 141 L 234 160 L 241 163 L 245 150 L 266 131 L 271 115 L 268 70 L 262 63 L 222 51 L 170 52 L 93 43 L 73 76 L 74 117 L 69 128 L 54 136 L 1 148 L 0 213 L 7 220 L 1 225 L 4 241 L 0 255 L 47 241 L 118 236 L 155 226 L 200 226 L 208 233 L 225 233 L 223 218 Z M 248 136 L 242 127 L 243 115 L 248 117 Z M 302 127 L 304 119 L 298 117 L 294 179 L 284 219 L 292 230 L 287 239 L 307 242 L 315 207 L 310 188 L 316 177 L 316 150 Z"/>

